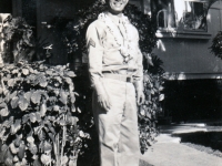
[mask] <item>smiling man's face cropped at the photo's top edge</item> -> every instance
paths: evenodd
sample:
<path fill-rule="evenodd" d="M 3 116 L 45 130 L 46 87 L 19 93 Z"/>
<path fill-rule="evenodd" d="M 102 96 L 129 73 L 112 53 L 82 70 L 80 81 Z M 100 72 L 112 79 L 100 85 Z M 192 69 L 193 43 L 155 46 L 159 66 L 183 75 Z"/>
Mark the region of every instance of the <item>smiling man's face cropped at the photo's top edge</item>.
<path fill-rule="evenodd" d="M 113 13 L 121 13 L 129 0 L 108 0 L 110 10 Z"/>

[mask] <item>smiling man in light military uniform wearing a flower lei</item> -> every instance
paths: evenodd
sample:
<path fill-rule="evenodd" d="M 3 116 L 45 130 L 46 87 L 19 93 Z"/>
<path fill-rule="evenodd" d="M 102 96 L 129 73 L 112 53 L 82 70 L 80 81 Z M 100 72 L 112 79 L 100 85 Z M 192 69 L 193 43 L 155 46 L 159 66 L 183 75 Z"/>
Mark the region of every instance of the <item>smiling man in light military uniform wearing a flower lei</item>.
<path fill-rule="evenodd" d="M 129 0 L 107 0 L 87 31 L 101 166 L 139 166 L 137 104 L 144 102 L 138 30 L 123 15 Z"/>

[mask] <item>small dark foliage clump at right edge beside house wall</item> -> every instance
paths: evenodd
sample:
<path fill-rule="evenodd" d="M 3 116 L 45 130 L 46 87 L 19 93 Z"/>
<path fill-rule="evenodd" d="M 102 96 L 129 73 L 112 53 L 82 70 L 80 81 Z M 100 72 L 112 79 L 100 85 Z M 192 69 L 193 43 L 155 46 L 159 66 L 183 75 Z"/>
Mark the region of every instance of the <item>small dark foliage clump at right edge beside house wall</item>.
<path fill-rule="evenodd" d="M 222 31 L 219 31 L 219 33 L 213 38 L 210 49 L 215 56 L 222 59 Z"/>

